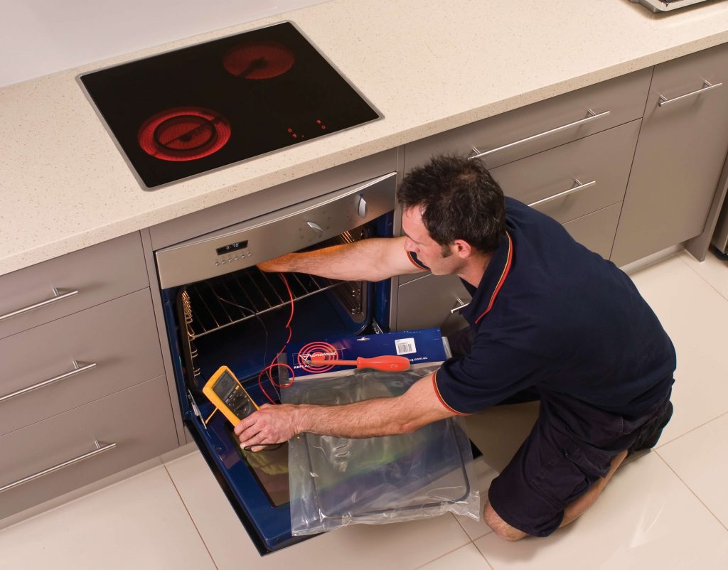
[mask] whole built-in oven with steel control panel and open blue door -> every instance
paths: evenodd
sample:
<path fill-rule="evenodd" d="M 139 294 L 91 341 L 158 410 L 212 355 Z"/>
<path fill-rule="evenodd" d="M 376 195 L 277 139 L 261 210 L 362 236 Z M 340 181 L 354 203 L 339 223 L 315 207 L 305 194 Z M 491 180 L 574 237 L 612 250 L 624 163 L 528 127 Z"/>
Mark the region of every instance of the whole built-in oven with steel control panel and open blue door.
<path fill-rule="evenodd" d="M 305 248 L 391 236 L 394 171 L 155 251 L 183 423 L 262 553 L 298 542 L 290 534 L 288 450 L 242 451 L 202 386 L 221 365 L 260 405 L 260 371 L 288 338 L 333 338 L 389 328 L 389 282 L 338 282 L 278 274 L 256 264 Z M 276 379 L 276 376 L 273 376 Z M 282 382 L 281 382 L 282 383 Z M 262 385 L 276 398 L 277 389 Z M 208 420 L 209 421 L 206 421 Z"/>

